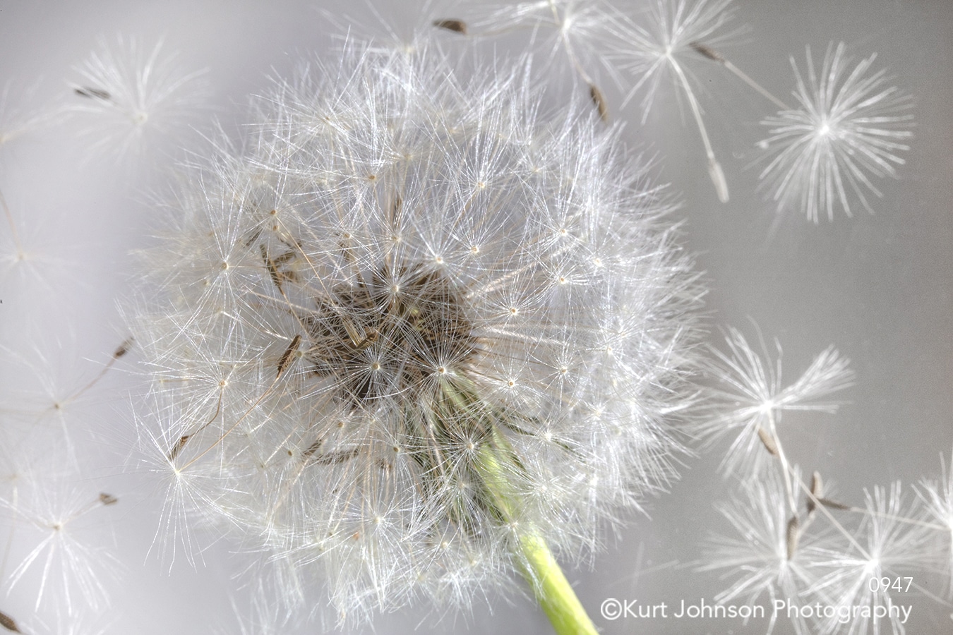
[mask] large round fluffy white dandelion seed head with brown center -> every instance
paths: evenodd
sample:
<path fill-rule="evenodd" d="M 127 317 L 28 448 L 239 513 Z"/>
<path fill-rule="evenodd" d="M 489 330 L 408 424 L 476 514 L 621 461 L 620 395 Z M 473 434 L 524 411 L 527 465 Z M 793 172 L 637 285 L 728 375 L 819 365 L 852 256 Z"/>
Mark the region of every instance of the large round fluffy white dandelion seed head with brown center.
<path fill-rule="evenodd" d="M 538 586 L 669 474 L 691 261 L 590 104 L 343 57 L 259 100 L 145 255 L 166 526 L 229 528 L 341 619 Z"/>

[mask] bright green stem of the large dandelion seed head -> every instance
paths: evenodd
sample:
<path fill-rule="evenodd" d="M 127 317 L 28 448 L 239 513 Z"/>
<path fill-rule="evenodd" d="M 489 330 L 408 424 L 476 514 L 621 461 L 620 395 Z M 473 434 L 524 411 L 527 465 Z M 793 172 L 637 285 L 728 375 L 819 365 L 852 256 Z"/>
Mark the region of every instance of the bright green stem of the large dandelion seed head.
<path fill-rule="evenodd" d="M 479 469 L 482 472 L 483 485 L 493 498 L 503 520 L 514 527 L 523 577 L 533 588 L 537 602 L 558 635 L 596 635 L 596 626 L 586 614 L 572 585 L 563 575 L 546 541 L 537 533 L 535 527 L 519 523 L 518 493 L 507 477 L 508 473 L 520 469 L 519 461 L 513 446 L 510 446 L 497 427 L 493 428 L 491 436 L 492 442 L 480 449 Z"/>

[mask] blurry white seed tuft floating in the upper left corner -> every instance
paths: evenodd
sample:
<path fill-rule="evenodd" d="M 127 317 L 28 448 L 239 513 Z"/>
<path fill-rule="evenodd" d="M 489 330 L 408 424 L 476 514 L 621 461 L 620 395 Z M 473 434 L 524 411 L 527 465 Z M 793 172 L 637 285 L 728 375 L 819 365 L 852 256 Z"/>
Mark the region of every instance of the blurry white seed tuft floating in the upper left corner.
<path fill-rule="evenodd" d="M 91 150 L 119 158 L 160 139 L 181 137 L 204 109 L 204 70 L 183 72 L 159 41 L 151 51 L 134 38 L 106 41 L 76 69 L 71 110 L 88 115 Z"/>

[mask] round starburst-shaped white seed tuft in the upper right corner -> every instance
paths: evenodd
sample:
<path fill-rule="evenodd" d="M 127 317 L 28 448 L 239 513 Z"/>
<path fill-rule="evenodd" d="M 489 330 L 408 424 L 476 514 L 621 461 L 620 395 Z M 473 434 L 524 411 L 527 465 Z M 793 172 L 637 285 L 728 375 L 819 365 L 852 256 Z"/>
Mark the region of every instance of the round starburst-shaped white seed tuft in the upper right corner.
<path fill-rule="evenodd" d="M 840 207 L 851 215 L 854 196 L 873 213 L 865 192 L 882 193 L 872 178 L 897 177 L 909 149 L 910 96 L 889 85 L 886 70 L 869 70 L 876 53 L 856 66 L 843 43 L 828 47 L 820 73 L 807 50 L 807 81 L 794 58 L 797 109 L 782 109 L 761 123 L 771 136 L 760 142 L 771 156 L 759 178 L 778 210 L 798 209 L 818 222 L 834 220 Z"/>

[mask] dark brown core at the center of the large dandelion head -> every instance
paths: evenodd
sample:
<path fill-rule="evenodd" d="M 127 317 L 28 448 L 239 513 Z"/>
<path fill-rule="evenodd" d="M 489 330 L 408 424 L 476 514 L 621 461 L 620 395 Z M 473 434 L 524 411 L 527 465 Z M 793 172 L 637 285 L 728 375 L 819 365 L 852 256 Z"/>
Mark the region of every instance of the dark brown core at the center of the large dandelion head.
<path fill-rule="evenodd" d="M 305 357 L 354 408 L 388 397 L 416 403 L 441 368 L 465 367 L 476 351 L 459 289 L 423 265 L 383 265 L 314 304 L 302 316 Z"/>

